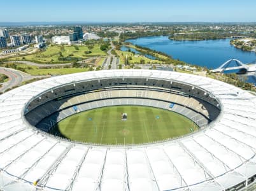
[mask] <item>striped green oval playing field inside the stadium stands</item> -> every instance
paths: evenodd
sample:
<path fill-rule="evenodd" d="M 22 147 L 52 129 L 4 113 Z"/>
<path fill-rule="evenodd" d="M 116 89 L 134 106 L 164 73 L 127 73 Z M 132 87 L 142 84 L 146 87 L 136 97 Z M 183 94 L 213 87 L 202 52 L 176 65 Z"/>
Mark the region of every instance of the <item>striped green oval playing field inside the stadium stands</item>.
<path fill-rule="evenodd" d="M 127 120 L 122 120 L 127 113 Z M 133 144 L 160 141 L 197 131 L 191 120 L 173 111 L 146 106 L 110 106 L 68 117 L 55 133 L 76 141 L 99 144 Z"/>

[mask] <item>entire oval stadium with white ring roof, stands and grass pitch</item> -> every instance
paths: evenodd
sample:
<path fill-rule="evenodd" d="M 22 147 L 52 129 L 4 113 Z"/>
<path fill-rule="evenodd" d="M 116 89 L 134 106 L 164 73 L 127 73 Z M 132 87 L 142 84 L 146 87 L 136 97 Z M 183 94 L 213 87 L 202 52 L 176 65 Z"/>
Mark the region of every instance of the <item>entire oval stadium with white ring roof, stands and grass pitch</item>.
<path fill-rule="evenodd" d="M 15 88 L 0 106 L 0 190 L 255 188 L 256 97 L 222 81 L 93 71 Z"/>

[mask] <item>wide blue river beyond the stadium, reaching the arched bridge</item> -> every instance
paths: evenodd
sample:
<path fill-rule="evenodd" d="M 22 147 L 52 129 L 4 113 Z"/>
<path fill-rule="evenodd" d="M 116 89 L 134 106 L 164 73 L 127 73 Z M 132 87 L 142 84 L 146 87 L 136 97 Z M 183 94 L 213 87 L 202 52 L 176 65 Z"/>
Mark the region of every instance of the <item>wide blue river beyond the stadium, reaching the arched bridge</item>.
<path fill-rule="evenodd" d="M 180 59 L 190 64 L 217 68 L 229 59 L 238 59 L 243 63 L 256 60 L 255 52 L 239 50 L 230 45 L 230 39 L 203 41 L 174 41 L 167 36 L 142 37 L 129 39 L 134 45 L 145 46 L 153 50 L 167 53 L 174 59 Z"/>

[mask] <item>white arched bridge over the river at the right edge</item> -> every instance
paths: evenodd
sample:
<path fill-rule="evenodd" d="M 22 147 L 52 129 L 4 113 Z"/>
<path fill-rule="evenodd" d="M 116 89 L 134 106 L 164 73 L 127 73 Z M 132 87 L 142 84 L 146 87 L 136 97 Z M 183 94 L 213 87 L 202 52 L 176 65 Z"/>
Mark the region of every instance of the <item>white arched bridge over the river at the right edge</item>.
<path fill-rule="evenodd" d="M 236 66 L 229 67 L 229 65 L 231 64 L 232 61 L 234 61 L 236 63 Z M 222 73 L 224 71 L 235 70 L 235 69 L 246 69 L 247 72 L 252 72 L 252 71 L 256 71 L 256 65 L 255 64 L 243 64 L 243 62 L 241 62 L 238 59 L 230 59 L 230 60 L 227 60 L 227 62 L 222 64 L 217 69 L 212 69 L 211 72 Z"/>

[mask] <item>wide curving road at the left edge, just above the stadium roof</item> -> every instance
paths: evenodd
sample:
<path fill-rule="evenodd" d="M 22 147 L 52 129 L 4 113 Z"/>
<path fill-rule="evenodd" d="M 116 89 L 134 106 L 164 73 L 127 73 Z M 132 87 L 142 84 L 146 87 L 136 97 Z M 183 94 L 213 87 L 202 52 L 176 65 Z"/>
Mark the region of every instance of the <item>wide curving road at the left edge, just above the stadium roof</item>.
<path fill-rule="evenodd" d="M 9 80 L 3 83 L 2 87 L 0 87 L 0 92 L 4 92 L 8 88 L 15 87 L 20 85 L 22 81 L 31 80 L 33 78 L 43 78 L 48 76 L 31 76 L 30 74 L 23 73 L 22 71 L 18 71 L 15 69 L 10 69 L 6 67 L 0 67 L 0 73 L 8 76 Z"/>

